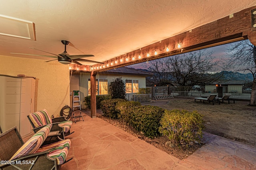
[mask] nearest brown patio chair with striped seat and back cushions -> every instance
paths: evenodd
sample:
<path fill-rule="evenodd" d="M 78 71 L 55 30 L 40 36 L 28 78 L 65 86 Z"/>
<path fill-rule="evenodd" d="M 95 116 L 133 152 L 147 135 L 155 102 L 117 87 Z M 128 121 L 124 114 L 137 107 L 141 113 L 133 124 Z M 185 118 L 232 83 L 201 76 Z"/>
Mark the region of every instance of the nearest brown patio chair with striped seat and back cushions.
<path fill-rule="evenodd" d="M 46 125 L 34 134 L 26 143 L 20 137 L 16 127 L 0 134 L 1 170 L 59 170 L 68 162 L 66 156 L 70 148 L 70 140 L 66 139 L 41 147 L 52 125 Z"/>

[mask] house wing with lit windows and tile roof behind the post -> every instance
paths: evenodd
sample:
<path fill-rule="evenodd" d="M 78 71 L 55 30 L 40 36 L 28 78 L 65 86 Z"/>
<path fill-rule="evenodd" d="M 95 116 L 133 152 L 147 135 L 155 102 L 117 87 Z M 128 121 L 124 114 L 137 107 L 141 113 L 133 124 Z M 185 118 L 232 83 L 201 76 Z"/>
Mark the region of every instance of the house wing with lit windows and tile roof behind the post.
<path fill-rule="evenodd" d="M 122 77 L 124 80 L 126 93 L 137 93 L 139 88 L 146 87 L 146 76 L 152 76 L 152 73 L 128 67 L 98 72 L 96 75 L 96 95 L 108 94 L 110 82 L 118 77 Z M 74 71 L 70 80 L 70 105 L 72 105 L 72 91 L 79 90 L 83 107 L 84 97 L 90 95 L 90 86 L 90 72 Z"/>

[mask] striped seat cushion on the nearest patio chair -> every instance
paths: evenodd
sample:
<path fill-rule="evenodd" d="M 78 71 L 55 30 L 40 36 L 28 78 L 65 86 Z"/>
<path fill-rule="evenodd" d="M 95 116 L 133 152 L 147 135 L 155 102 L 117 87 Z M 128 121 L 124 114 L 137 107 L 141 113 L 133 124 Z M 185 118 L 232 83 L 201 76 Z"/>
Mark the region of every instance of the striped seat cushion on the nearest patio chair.
<path fill-rule="evenodd" d="M 56 143 L 52 143 L 50 145 L 47 145 L 45 147 L 42 147 L 38 149 L 36 152 L 43 152 L 48 150 L 48 156 L 55 158 L 57 161 L 57 164 L 63 164 L 66 160 L 66 157 L 68 156 L 68 150 L 70 148 L 71 141 L 70 139 L 66 139 L 64 141 L 59 141 Z"/>

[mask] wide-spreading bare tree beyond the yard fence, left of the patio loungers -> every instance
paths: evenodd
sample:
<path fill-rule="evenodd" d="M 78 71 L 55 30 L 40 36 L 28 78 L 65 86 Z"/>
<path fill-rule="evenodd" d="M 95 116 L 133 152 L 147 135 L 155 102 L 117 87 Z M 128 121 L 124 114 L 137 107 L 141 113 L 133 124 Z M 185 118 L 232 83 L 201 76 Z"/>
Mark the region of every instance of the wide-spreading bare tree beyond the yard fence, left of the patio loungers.
<path fill-rule="evenodd" d="M 212 56 L 212 53 L 198 50 L 151 61 L 147 68 L 154 72 L 154 77 L 147 80 L 149 83 L 155 82 L 158 86 L 171 82 L 181 86 L 214 82 L 222 74 L 218 74 L 218 76 L 210 74 L 210 72 L 215 72 L 218 69 L 220 62 Z"/>

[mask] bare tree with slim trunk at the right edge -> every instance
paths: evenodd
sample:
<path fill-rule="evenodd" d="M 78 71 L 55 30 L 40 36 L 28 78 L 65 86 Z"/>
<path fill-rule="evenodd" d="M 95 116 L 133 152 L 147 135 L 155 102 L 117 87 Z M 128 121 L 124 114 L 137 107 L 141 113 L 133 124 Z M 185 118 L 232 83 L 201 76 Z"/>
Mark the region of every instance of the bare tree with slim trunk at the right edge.
<path fill-rule="evenodd" d="M 249 71 L 253 76 L 250 105 L 256 106 L 256 46 L 249 40 L 238 41 L 228 47 L 228 68 Z"/>

